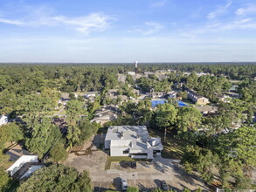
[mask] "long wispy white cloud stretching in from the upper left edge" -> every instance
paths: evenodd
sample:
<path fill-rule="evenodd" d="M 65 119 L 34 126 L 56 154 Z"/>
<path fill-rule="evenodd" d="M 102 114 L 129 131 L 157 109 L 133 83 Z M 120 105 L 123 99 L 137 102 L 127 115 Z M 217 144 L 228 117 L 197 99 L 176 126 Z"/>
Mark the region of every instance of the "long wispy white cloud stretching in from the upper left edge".
<path fill-rule="evenodd" d="M 64 26 L 84 34 L 89 34 L 91 31 L 105 31 L 109 27 L 110 21 L 114 20 L 113 17 L 98 12 L 82 17 L 54 16 L 52 12 L 51 10 L 50 13 L 47 13 L 44 8 L 39 8 L 21 19 L 0 17 L 0 23 L 31 27 L 40 25 Z"/>

